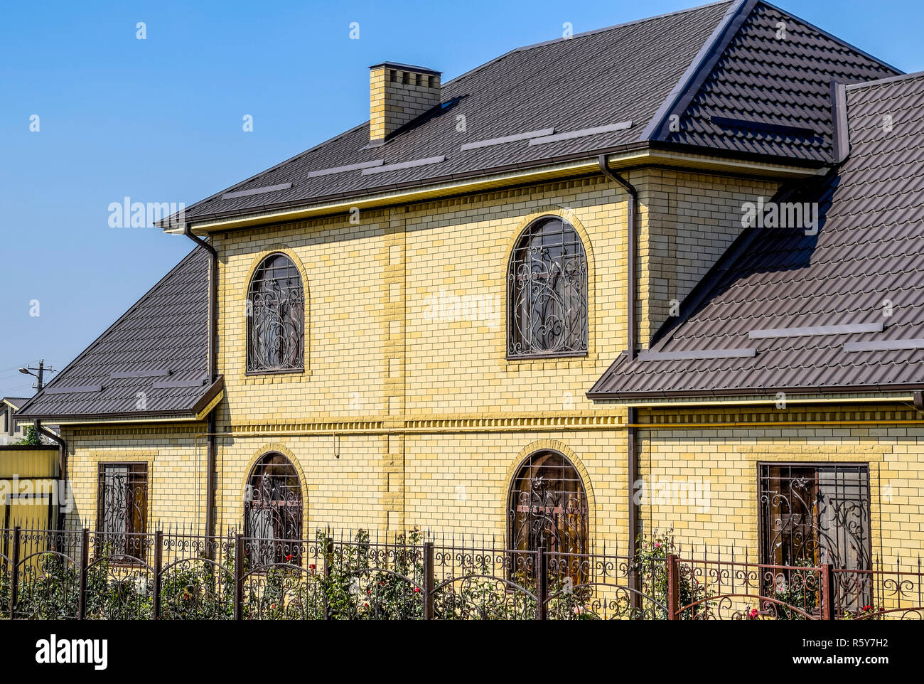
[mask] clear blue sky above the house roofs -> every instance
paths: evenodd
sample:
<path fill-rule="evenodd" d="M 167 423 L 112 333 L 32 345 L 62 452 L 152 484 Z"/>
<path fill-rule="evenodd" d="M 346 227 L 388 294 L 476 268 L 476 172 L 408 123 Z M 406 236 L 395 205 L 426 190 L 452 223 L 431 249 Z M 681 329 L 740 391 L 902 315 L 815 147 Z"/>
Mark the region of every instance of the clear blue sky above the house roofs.
<path fill-rule="evenodd" d="M 590 31 L 700 4 L 5 0 L 0 396 L 29 397 L 18 366 L 64 368 L 190 249 L 155 228 L 110 227 L 110 202 L 191 204 L 352 128 L 369 118 L 376 62 L 448 80 L 560 37 L 565 21 Z M 919 0 L 777 4 L 895 67 L 924 69 Z"/>

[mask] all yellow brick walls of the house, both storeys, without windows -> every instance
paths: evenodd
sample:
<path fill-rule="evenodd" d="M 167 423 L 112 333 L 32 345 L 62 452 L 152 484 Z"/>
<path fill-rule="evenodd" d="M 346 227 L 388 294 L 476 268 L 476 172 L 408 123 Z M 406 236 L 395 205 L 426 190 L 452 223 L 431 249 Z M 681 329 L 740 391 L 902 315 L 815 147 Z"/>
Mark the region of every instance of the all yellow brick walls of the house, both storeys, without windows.
<path fill-rule="evenodd" d="M 644 343 L 663 321 L 664 300 L 682 299 L 736 237 L 740 204 L 771 195 L 775 184 L 661 169 L 628 176 L 641 191 L 639 281 L 650 304 L 640 312 Z M 573 359 L 507 360 L 507 259 L 523 227 L 545 214 L 574 225 L 588 253 L 590 351 Z M 214 244 L 225 376 L 217 409 L 223 528 L 241 525 L 255 460 L 279 451 L 301 478 L 306 535 L 325 527 L 419 526 L 503 539 L 518 463 L 531 450 L 557 448 L 584 480 L 592 536 L 611 549 L 627 548 L 626 409 L 593 404 L 584 394 L 626 346 L 622 189 L 587 177 L 363 212 L 359 223 L 343 214 L 227 232 Z M 305 284 L 306 368 L 248 375 L 249 278 L 274 251 L 293 259 Z M 649 507 L 646 529 L 673 523 L 689 543 L 753 545 L 757 462 L 869 457 L 877 464 L 874 534 L 889 538 L 882 553 L 896 554 L 901 539 L 912 546 L 917 539 L 919 548 L 920 435 L 895 430 L 642 430 L 643 476 L 711 478 L 717 502 L 707 514 Z M 204 425 L 68 431 L 79 515 L 95 516 L 99 460 L 128 454 L 150 459 L 152 520 L 199 524 L 205 449 L 194 435 L 202 432 Z M 880 500 L 886 480 L 892 507 Z"/>

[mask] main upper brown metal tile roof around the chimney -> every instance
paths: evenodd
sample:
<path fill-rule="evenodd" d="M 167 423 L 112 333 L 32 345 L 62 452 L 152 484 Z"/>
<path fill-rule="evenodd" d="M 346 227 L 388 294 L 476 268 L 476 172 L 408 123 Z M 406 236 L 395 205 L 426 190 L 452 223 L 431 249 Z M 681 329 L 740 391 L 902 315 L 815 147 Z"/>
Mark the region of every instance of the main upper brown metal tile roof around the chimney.
<path fill-rule="evenodd" d="M 769 33 L 776 31 L 774 23 L 781 18 L 791 26 L 786 41 L 776 41 L 775 34 Z M 193 204 L 184 219 L 255 214 L 479 177 L 589 158 L 650 141 L 819 165 L 831 156 L 831 78 L 853 81 L 896 73 L 756 0 L 696 7 L 512 50 L 445 83 L 442 100 L 447 106 L 411 122 L 387 144 L 370 148 L 369 124 L 361 124 Z M 684 132 L 667 136 L 657 124 L 675 110 L 684 114 Z M 464 132 L 456 130 L 458 115 L 466 116 Z M 760 131 L 723 131 L 710 122 L 710 115 L 812 126 L 819 128 L 820 135 L 807 140 Z M 631 128 L 548 144 L 517 140 L 459 149 L 464 143 L 543 128 L 554 128 L 557 134 L 626 121 L 632 122 Z M 441 155 L 445 158 L 440 163 L 383 173 L 363 174 L 354 168 L 316 174 L 376 160 L 394 165 Z M 237 194 L 274 186 L 279 188 Z M 223 197 L 228 192 L 236 196 Z"/>

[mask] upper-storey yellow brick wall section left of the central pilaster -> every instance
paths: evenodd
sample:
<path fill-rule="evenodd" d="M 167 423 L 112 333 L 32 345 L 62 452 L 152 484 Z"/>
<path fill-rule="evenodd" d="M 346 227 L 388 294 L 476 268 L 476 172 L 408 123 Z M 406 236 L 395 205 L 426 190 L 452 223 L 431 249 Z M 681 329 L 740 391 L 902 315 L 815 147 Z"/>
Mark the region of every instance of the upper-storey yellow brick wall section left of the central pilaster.
<path fill-rule="evenodd" d="M 215 239 L 219 262 L 218 366 L 225 375 L 225 420 L 286 421 L 306 416 L 359 420 L 381 416 L 385 311 L 390 291 L 389 216 L 338 216 L 311 224 L 240 231 Z M 262 259 L 285 252 L 305 287 L 305 371 L 246 373 L 247 294 Z"/>

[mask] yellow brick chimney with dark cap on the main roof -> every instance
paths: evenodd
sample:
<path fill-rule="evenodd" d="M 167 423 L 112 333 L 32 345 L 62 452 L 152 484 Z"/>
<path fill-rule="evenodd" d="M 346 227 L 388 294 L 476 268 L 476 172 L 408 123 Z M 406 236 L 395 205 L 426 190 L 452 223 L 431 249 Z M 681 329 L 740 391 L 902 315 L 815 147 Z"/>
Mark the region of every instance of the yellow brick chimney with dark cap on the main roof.
<path fill-rule="evenodd" d="M 443 72 L 383 62 L 369 67 L 369 139 L 381 145 L 407 122 L 440 104 Z"/>

